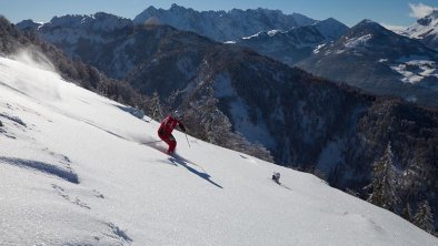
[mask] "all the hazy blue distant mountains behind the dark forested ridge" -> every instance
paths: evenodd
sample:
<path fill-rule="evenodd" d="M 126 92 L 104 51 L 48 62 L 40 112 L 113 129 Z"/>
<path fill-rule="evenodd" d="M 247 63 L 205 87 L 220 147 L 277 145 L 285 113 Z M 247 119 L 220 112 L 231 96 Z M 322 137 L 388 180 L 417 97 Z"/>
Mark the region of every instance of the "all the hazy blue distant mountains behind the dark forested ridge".
<path fill-rule="evenodd" d="M 404 35 L 409 39 L 368 20 L 347 33 L 348 27 L 332 18 L 317 21 L 297 13 L 283 14 L 266 9 L 198 12 L 173 4 L 169 10 L 150 7 L 133 21 L 155 20 L 216 41 L 250 48 L 338 83 L 437 106 L 437 17 L 435 11 L 407 29 Z M 364 25 L 368 25 L 370 40 L 357 37 L 356 31 Z M 347 39 L 359 40 L 358 43 L 342 43 Z M 340 48 L 344 44 L 346 49 Z M 397 47 L 399 57 L 392 51 Z M 337 53 L 341 51 L 347 52 Z"/>

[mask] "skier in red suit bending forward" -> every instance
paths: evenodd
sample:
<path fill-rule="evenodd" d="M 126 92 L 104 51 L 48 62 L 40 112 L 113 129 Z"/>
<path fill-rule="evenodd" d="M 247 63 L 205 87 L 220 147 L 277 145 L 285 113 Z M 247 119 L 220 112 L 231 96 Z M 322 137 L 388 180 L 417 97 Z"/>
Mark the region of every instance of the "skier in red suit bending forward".
<path fill-rule="evenodd" d="M 158 129 L 158 136 L 169 145 L 169 148 L 167 150 L 168 154 L 172 154 L 177 147 L 177 141 L 172 135 L 173 129 L 179 126 L 182 132 L 186 132 L 186 127 L 181 123 L 181 112 L 176 110 L 161 122 L 161 125 Z"/>

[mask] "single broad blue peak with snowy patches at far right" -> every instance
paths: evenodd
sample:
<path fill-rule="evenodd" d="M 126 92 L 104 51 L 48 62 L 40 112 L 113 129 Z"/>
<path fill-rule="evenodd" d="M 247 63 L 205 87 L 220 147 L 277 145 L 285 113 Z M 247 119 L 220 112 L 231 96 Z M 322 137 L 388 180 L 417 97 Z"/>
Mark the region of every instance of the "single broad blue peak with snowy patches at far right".
<path fill-rule="evenodd" d="M 376 94 L 438 105 L 438 52 L 364 20 L 297 65 Z"/>

